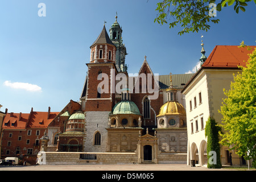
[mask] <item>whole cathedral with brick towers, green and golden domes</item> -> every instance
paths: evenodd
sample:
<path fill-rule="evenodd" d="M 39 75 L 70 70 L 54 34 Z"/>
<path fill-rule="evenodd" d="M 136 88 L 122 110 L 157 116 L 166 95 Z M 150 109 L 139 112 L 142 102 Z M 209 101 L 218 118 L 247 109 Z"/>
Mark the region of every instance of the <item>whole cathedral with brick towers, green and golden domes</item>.
<path fill-rule="evenodd" d="M 90 46 L 80 102 L 71 100 L 48 125 L 47 151 L 130 152 L 138 163 L 159 163 L 163 155 L 187 155 L 181 90 L 193 73 L 156 75 L 144 56 L 138 75 L 129 76 L 126 55 L 115 16 L 109 34 L 104 24 Z M 179 162 L 186 163 L 186 157 Z"/>

